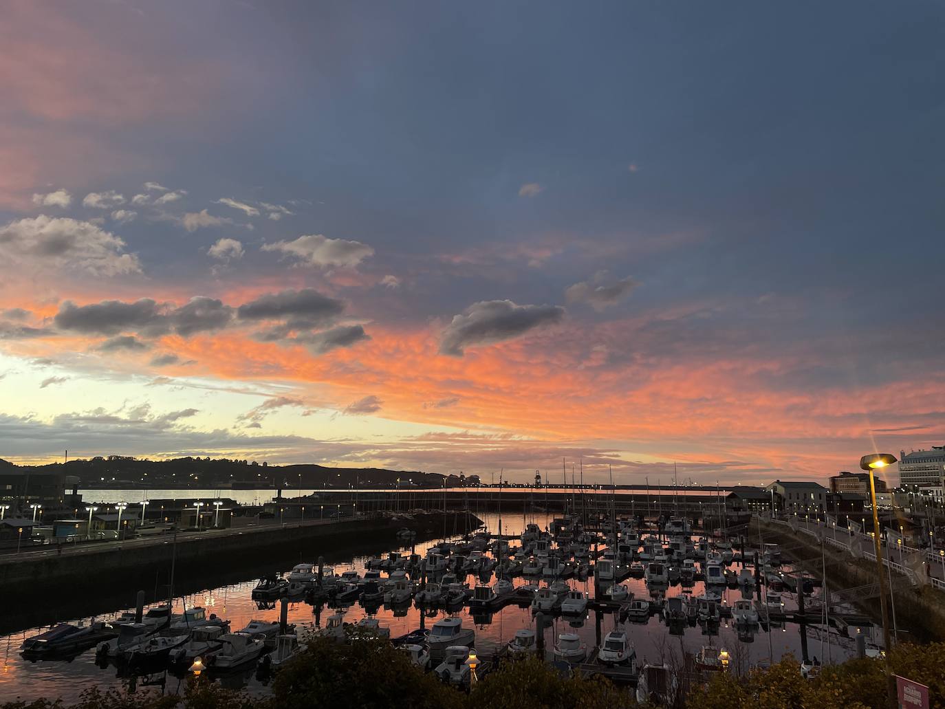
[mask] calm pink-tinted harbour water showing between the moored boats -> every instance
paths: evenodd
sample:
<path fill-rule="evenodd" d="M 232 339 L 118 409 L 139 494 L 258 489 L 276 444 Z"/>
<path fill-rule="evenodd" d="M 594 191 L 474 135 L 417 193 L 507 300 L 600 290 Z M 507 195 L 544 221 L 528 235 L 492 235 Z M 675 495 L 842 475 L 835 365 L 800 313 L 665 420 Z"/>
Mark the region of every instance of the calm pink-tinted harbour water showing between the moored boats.
<path fill-rule="evenodd" d="M 252 491 L 249 491 L 252 492 Z M 491 528 L 495 528 L 497 520 L 494 515 L 480 515 Z M 530 518 L 527 521 L 534 521 L 545 526 L 545 517 L 543 514 Z M 503 527 L 508 533 L 520 533 L 524 526 L 524 518 L 521 514 L 517 517 L 503 517 Z M 429 545 L 418 545 L 418 553 L 423 553 Z M 378 553 L 386 552 L 387 549 L 378 549 Z M 408 549 L 402 549 L 406 552 Z M 315 560 L 312 560 L 315 561 Z M 336 564 L 335 573 L 340 574 L 347 568 L 357 569 L 363 572 L 366 558 L 355 558 L 350 564 Z M 738 569 L 738 564 L 730 565 L 730 568 Z M 281 569 L 288 571 L 288 569 Z M 466 579 L 471 585 L 475 579 L 470 577 Z M 515 579 L 516 585 L 525 583 L 524 579 Z M 593 582 L 571 581 L 572 585 L 580 590 L 587 591 L 593 597 Z M 627 579 L 625 583 L 636 597 L 649 597 L 643 579 Z M 187 607 L 203 606 L 208 613 L 215 613 L 231 621 L 232 630 L 243 628 L 250 620 L 254 618 L 266 620 L 278 620 L 278 608 L 271 610 L 259 610 L 257 604 L 251 600 L 250 592 L 256 584 L 256 579 L 248 578 L 244 582 L 230 586 L 221 586 L 218 588 L 207 589 L 205 591 L 185 597 Z M 692 590 L 694 595 L 703 592 L 703 584 L 696 583 Z M 681 593 L 679 586 L 670 587 L 667 596 L 677 596 Z M 818 589 L 815 590 L 815 595 Z M 726 590 L 724 598 L 730 605 L 736 599 L 742 597 L 741 592 L 737 590 Z M 784 601 L 787 609 L 796 608 L 796 597 L 784 593 Z M 175 612 L 180 613 L 182 607 L 181 599 L 177 599 Z M 129 608 L 116 608 L 114 614 L 117 615 Z M 315 628 L 319 623 L 324 623 L 328 615 L 335 613 L 333 610 L 322 609 L 318 615 L 313 613 L 312 606 L 303 602 L 292 603 L 289 606 L 289 622 L 295 623 L 297 628 L 305 630 Z M 356 622 L 364 616 L 364 610 L 354 605 L 345 612 L 347 621 Z M 444 615 L 439 612 L 438 617 Z M 399 613 L 395 617 L 395 612 L 381 608 L 376 614 L 382 625 L 390 628 L 391 636 L 397 636 L 420 627 L 420 611 L 411 606 L 409 610 Z M 488 623 L 473 623 L 473 618 L 468 611 L 460 613 L 463 618 L 463 624 L 466 627 L 474 627 L 476 633 L 475 648 L 482 656 L 489 655 L 498 648 L 502 648 L 520 628 L 534 627 L 533 618 L 530 609 L 519 608 L 515 605 L 506 606 L 501 611 L 493 614 Z M 106 616 L 100 615 L 99 618 Z M 79 618 L 70 619 L 70 622 L 76 622 Z M 432 626 L 436 618 L 428 617 L 426 627 Z M 604 614 L 601 621 L 601 632 L 606 633 L 614 627 L 614 619 L 610 614 Z M 686 627 L 682 635 L 670 635 L 667 628 L 662 624 L 659 616 L 653 616 L 645 624 L 627 623 L 627 631 L 634 642 L 638 662 L 644 659 L 657 661 L 666 653 L 679 652 L 684 648 L 688 652 L 696 652 L 699 648 L 710 643 L 715 648 L 725 648 L 729 650 L 732 657 L 732 666 L 747 667 L 766 662 L 770 653 L 775 662 L 786 652 L 794 652 L 799 656 L 800 653 L 800 634 L 798 626 L 787 625 L 784 628 L 773 627 L 770 633 L 764 628 L 757 629 L 750 636 L 739 637 L 730 621 L 723 619 L 718 628 L 717 635 L 709 637 L 703 634 L 703 629 L 696 625 L 695 628 Z M 146 681 L 159 683 L 149 691 L 177 692 L 180 688 L 180 679 L 171 674 L 161 673 L 149 678 L 129 678 L 119 676 L 115 666 L 100 668 L 95 665 L 94 648 L 79 655 L 72 661 L 50 660 L 41 662 L 28 662 L 20 657 L 19 648 L 24 638 L 43 631 L 38 628 L 28 628 L 22 631 L 14 632 L 9 635 L 0 636 L 0 653 L 3 654 L 3 669 L 0 671 L 0 699 L 14 700 L 17 698 L 23 700 L 34 700 L 39 698 L 62 697 L 65 700 L 76 700 L 79 693 L 88 687 L 99 686 L 124 686 L 132 691 L 148 691 L 145 686 Z M 545 643 L 547 648 L 553 648 L 555 639 L 560 632 L 577 632 L 589 648 L 596 644 L 595 639 L 595 618 L 590 613 L 588 617 L 578 622 L 569 622 L 567 619 L 556 619 L 551 628 L 545 631 Z M 813 657 L 816 655 L 821 660 L 826 660 L 826 647 L 821 645 L 821 636 L 816 629 L 808 630 L 809 652 Z M 770 642 L 769 642 L 770 640 Z M 831 654 L 833 661 L 851 657 L 855 651 L 852 640 L 838 637 L 836 632 L 831 634 Z M 822 649 L 823 647 L 823 649 Z M 266 683 L 258 680 L 255 676 L 255 669 L 250 669 L 242 675 L 223 678 L 222 683 L 231 687 L 245 686 L 252 693 L 266 692 Z"/>

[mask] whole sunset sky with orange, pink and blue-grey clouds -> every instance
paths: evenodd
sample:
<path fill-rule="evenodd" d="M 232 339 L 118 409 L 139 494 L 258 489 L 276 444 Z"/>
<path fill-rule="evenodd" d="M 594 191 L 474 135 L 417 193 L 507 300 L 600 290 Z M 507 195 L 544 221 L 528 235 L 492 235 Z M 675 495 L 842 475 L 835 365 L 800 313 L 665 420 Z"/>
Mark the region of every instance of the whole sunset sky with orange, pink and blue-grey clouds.
<path fill-rule="evenodd" d="M 0 458 L 945 442 L 945 5 L 4 3 Z"/>

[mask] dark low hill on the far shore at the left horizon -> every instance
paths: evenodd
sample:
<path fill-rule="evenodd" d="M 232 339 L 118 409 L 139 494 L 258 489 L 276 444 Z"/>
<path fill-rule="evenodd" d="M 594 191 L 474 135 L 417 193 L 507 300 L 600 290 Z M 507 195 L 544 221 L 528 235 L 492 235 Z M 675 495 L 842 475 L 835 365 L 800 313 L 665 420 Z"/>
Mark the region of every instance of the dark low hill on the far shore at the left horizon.
<path fill-rule="evenodd" d="M 261 487 L 303 488 L 349 486 L 364 488 L 371 486 L 390 487 L 398 478 L 404 487 L 440 487 L 444 476 L 421 471 L 396 471 L 383 468 L 329 468 L 324 465 L 267 465 L 255 460 L 231 460 L 229 458 L 173 458 L 149 460 L 128 456 L 77 458 L 66 463 L 40 466 L 17 466 L 0 459 L 0 467 L 9 467 L 26 472 L 59 472 L 76 476 L 80 487 L 106 487 L 109 485 L 146 485 L 150 488 L 165 487 Z M 458 484 L 455 476 L 446 477 L 447 484 Z"/>

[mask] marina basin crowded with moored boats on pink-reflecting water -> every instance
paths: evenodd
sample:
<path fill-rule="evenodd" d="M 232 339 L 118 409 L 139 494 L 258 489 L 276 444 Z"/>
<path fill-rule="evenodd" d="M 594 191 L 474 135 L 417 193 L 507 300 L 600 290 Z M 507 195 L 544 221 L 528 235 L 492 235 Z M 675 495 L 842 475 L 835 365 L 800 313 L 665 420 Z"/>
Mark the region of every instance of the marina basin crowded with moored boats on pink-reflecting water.
<path fill-rule="evenodd" d="M 713 563 L 730 572 L 731 584 L 705 580 L 706 555 L 714 560 L 715 549 L 698 530 L 667 535 L 655 525 L 638 528 L 626 520 L 614 520 L 616 531 L 590 530 L 575 518 L 570 525 L 558 518 L 546 532 L 543 514 L 517 514 L 502 519 L 499 539 L 487 531 L 499 528 L 498 515 L 481 517 L 479 534 L 416 544 L 413 556 L 411 544 L 401 538 L 395 548 L 333 559 L 319 569 L 314 548 L 306 560 L 271 568 L 262 579 L 248 573 L 238 582 L 175 597 L 172 607 L 147 606 L 141 623 L 134 622 L 133 602 L 94 618 L 63 619 L 67 627 L 95 630 L 81 645 L 64 644 L 56 653 L 21 654 L 29 638 L 50 628 L 18 628 L 0 637 L 0 693 L 75 700 L 89 686 L 178 692 L 192 665 L 188 660 L 211 648 L 217 659 L 208 669 L 215 681 L 262 695 L 273 668 L 303 647 L 311 633 L 390 638 L 451 683 L 464 681 L 466 656 L 458 648 L 475 649 L 483 662 L 480 674 L 490 663 L 534 652 L 549 663 L 635 686 L 642 676 L 662 682 L 661 672 L 713 671 L 706 666 L 717 665 L 720 657 L 731 671 L 742 673 L 778 662 L 788 652 L 799 661 L 840 662 L 857 653 L 858 635 L 868 638 L 866 647 L 876 647 L 868 618 L 851 609 L 850 619 L 861 625 L 837 617 L 825 631 L 822 610 L 816 615 L 819 585 L 798 597 L 782 580 L 795 574 L 790 564 L 763 563 L 756 569 L 741 561 L 741 550 L 726 548 L 727 539 L 717 541 L 731 561 L 723 557 Z M 608 545 L 614 534 L 615 549 Z M 681 549 L 672 559 L 671 539 Z M 734 541 L 737 547 L 737 536 Z M 668 569 L 666 580 L 663 573 L 649 580 L 645 574 L 631 576 L 630 560 L 644 551 L 654 557 L 646 569 L 692 562 L 692 580 L 669 581 Z M 753 558 L 749 552 L 746 557 Z M 663 556 L 665 561 L 655 561 Z M 535 562 L 537 573 L 524 576 L 528 562 Z M 602 562 L 616 570 L 616 582 L 595 583 L 593 570 Z M 760 582 L 740 584 L 748 574 Z M 781 579 L 777 603 L 767 602 L 765 576 L 772 586 Z M 301 593 L 288 596 L 290 586 Z M 103 639 L 112 632 L 113 639 Z M 118 633 L 129 639 L 121 641 Z M 96 651 L 109 643 L 115 651 Z"/>

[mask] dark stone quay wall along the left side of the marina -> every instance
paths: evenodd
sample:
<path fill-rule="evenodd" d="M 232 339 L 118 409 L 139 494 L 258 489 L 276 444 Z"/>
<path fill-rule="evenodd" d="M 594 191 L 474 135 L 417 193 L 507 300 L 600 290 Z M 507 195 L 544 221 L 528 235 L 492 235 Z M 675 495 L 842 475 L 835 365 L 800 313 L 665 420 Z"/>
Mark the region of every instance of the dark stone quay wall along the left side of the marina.
<path fill-rule="evenodd" d="M 481 524 L 469 512 L 421 512 L 403 516 L 347 518 L 331 523 L 244 527 L 173 533 L 146 540 L 83 545 L 62 554 L 0 562 L 0 597 L 17 617 L 4 614 L 0 631 L 44 625 L 77 615 L 133 605 L 138 590 L 148 602 L 194 593 L 212 585 L 275 573 L 298 562 L 350 560 L 398 548 L 397 531 L 408 527 L 417 541 L 463 534 Z M 25 617 L 26 616 L 26 617 Z"/>

